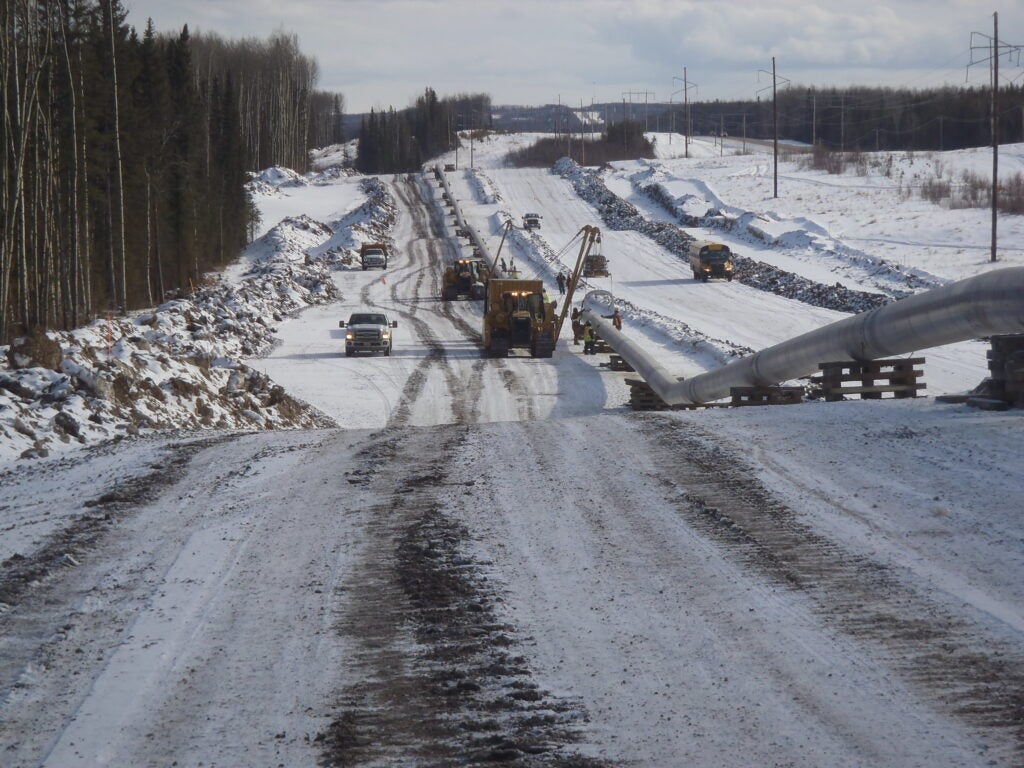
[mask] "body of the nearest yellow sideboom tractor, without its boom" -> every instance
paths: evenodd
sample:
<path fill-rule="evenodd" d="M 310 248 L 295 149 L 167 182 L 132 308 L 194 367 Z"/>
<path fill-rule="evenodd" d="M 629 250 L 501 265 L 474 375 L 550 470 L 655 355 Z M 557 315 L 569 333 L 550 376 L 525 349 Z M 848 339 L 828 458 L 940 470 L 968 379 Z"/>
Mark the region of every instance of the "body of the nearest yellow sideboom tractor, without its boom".
<path fill-rule="evenodd" d="M 554 353 L 554 303 L 545 302 L 543 281 L 487 281 L 483 348 L 492 357 L 508 357 L 510 349 L 528 349 L 532 357 Z"/>

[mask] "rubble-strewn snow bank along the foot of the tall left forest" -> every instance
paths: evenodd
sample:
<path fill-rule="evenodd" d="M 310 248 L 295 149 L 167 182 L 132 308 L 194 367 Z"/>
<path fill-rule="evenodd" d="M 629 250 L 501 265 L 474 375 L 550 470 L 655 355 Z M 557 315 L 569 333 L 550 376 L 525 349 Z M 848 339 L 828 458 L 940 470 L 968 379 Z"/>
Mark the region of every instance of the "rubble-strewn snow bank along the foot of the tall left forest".
<path fill-rule="evenodd" d="M 269 169 L 261 176 L 292 183 L 293 174 Z M 290 217 L 251 244 L 238 282 L 218 279 L 153 310 L 0 347 L 0 461 L 143 429 L 328 424 L 238 360 L 269 349 L 286 316 L 336 300 L 331 270 L 351 263 L 360 241 L 387 237 L 393 201 L 376 179 L 362 188 L 367 202 L 334 226 Z M 351 247 L 324 248 L 335 241 Z M 46 347 L 55 355 L 44 354 Z"/>

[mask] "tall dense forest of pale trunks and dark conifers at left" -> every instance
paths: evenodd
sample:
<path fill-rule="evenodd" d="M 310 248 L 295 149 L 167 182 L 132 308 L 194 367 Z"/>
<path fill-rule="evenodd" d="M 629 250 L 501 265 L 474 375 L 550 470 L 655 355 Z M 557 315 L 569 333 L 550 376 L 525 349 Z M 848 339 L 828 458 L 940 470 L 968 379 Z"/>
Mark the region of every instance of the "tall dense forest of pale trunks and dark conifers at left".
<path fill-rule="evenodd" d="M 247 169 L 341 138 L 294 37 L 142 34 L 121 0 L 0 3 L 0 343 L 187 292 L 247 242 Z"/>

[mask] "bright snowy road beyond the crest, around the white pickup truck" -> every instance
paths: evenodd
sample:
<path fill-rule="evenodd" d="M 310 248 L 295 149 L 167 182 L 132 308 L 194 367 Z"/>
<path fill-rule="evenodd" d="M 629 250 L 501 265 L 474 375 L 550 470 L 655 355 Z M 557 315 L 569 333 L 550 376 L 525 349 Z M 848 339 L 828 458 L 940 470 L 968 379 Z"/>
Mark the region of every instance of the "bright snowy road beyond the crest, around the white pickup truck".
<path fill-rule="evenodd" d="M 481 359 L 479 302 L 439 299 L 442 264 L 459 246 L 444 231 L 436 185 L 402 177 L 390 188 L 402 210 L 391 267 L 339 273 L 341 303 L 287 324 L 281 345 L 253 367 L 353 427 L 547 419 L 625 403 L 624 385 L 607 391 L 564 346 L 552 360 Z M 338 321 L 366 308 L 398 322 L 390 357 L 344 356 Z"/>

